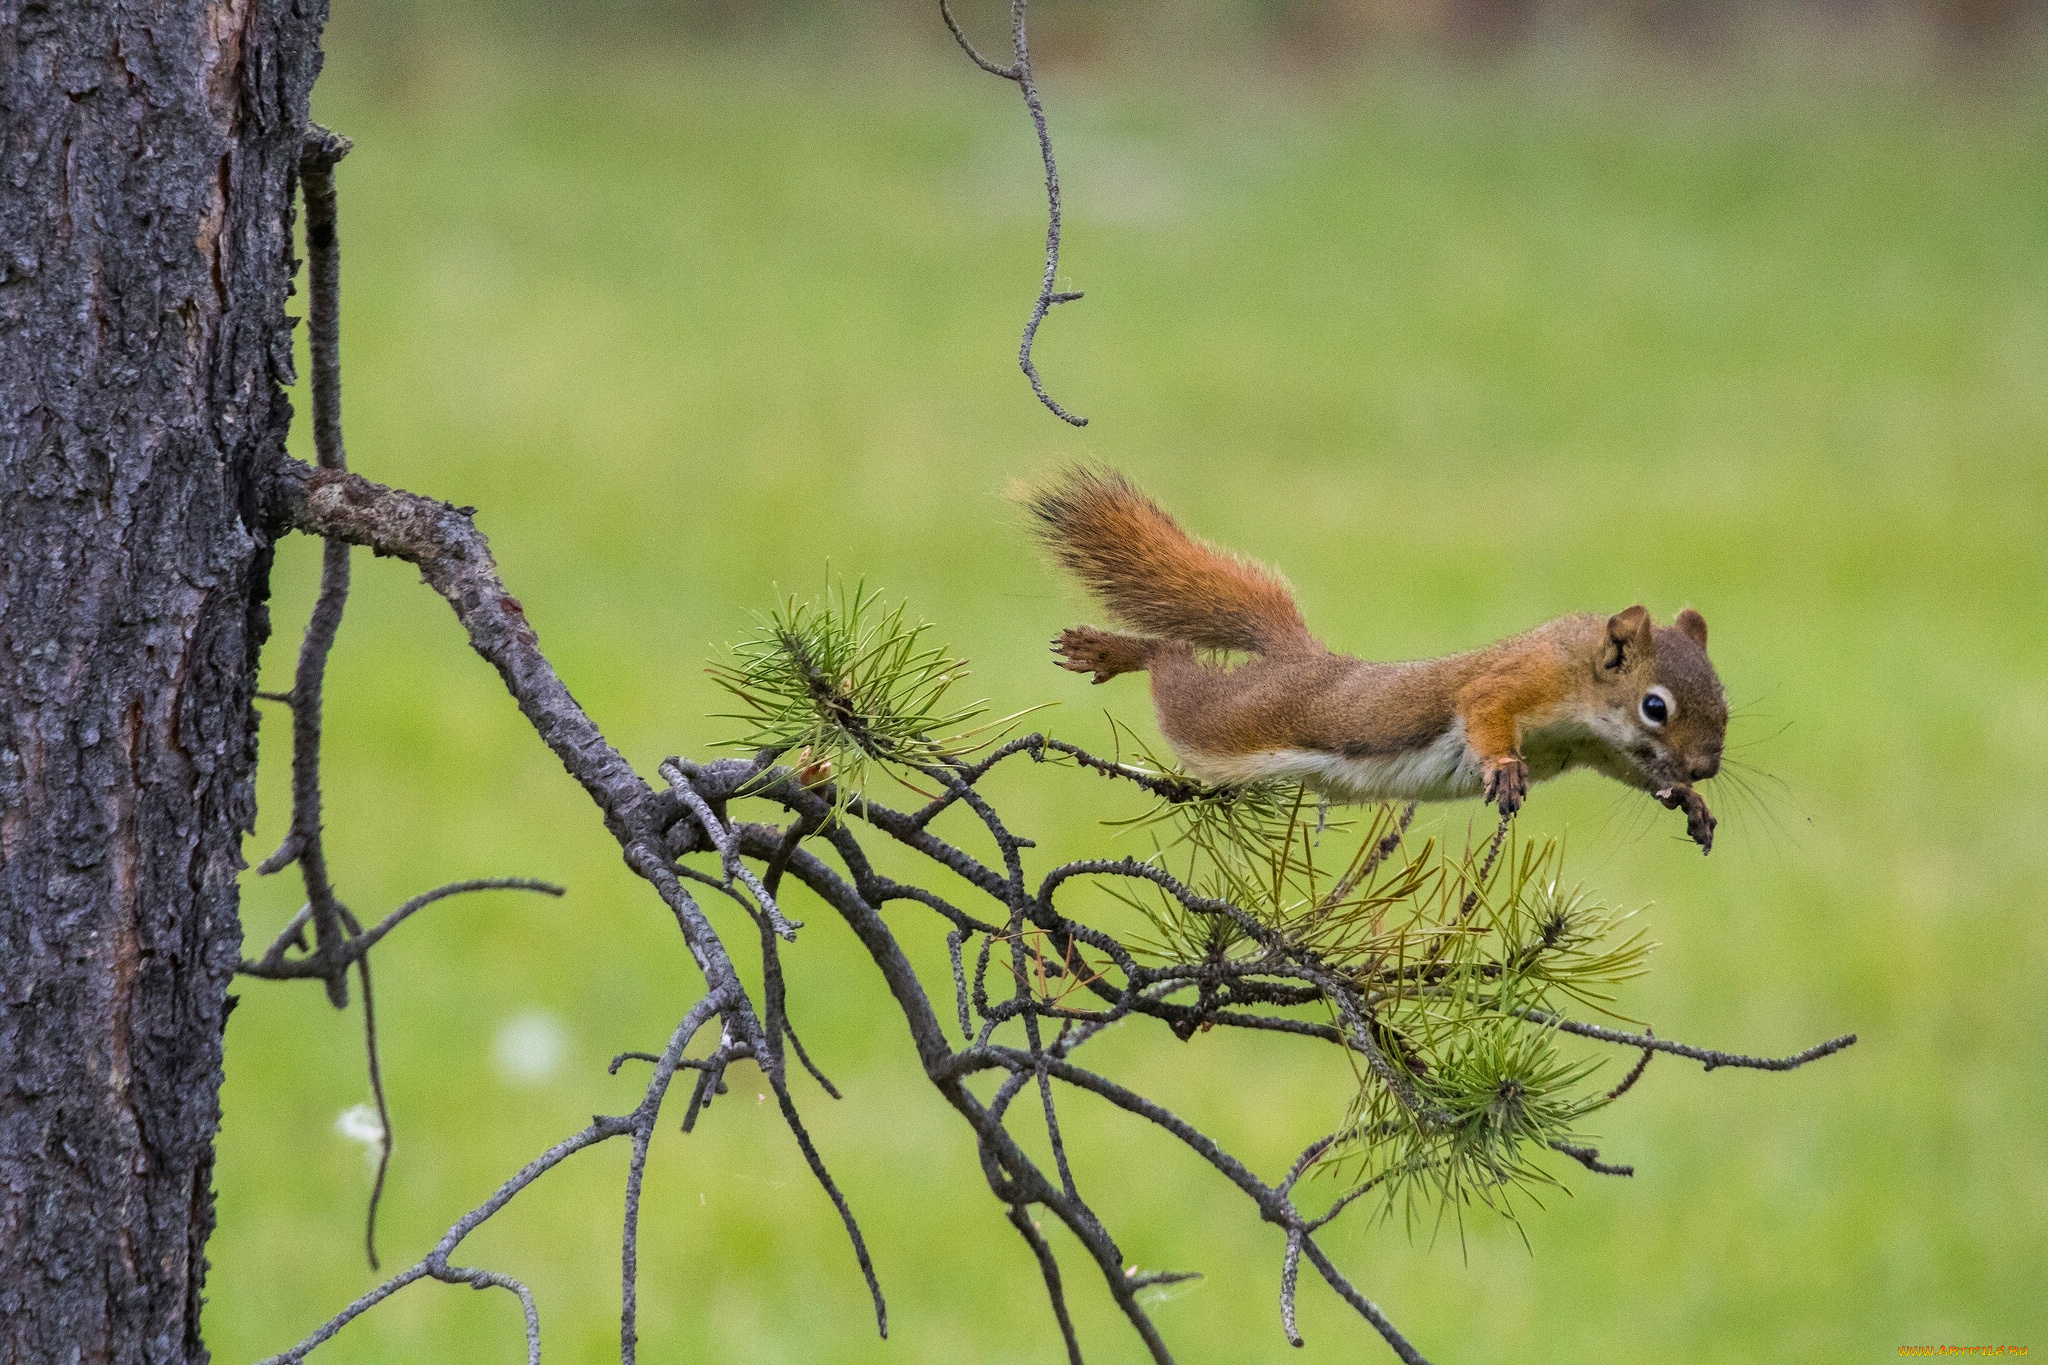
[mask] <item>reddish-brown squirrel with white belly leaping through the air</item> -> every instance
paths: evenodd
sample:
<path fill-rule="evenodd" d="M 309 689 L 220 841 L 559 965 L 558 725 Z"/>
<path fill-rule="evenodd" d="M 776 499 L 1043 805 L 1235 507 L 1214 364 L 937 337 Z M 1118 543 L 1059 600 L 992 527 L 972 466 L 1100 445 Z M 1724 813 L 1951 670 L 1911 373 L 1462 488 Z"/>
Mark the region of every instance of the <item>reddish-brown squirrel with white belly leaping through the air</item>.
<path fill-rule="evenodd" d="M 1055 661 L 1098 684 L 1151 673 L 1159 731 L 1202 782 L 1286 778 L 1341 802 L 1483 796 L 1507 819 L 1532 782 L 1591 767 L 1683 810 L 1712 851 L 1692 784 L 1720 769 L 1729 704 L 1700 612 L 1669 626 L 1642 606 L 1581 612 L 1462 655 L 1370 663 L 1309 634 L 1278 573 L 1192 538 L 1116 471 L 1077 467 L 1016 495 L 1135 632 L 1063 630 Z"/>

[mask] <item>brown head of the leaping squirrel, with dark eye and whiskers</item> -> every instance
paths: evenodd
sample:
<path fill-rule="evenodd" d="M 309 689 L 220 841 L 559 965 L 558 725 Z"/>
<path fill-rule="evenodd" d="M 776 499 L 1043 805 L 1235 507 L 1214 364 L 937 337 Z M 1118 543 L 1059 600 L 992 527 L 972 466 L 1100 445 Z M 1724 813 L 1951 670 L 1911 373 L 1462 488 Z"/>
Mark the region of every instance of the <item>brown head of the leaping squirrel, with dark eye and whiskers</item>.
<path fill-rule="evenodd" d="M 1608 739 L 1649 790 L 1706 782 L 1720 772 L 1729 700 L 1706 657 L 1706 618 L 1686 608 L 1653 626 L 1642 606 L 1608 618 L 1595 665 L 1606 692 Z"/>

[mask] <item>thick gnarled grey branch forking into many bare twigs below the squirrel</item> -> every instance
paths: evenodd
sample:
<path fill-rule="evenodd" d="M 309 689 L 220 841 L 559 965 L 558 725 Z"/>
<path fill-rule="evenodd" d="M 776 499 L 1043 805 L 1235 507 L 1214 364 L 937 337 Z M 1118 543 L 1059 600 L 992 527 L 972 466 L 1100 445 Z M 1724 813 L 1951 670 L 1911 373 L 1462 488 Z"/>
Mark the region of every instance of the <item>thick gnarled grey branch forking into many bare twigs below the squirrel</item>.
<path fill-rule="evenodd" d="M 1327 1254 L 1323 1254 L 1317 1244 L 1315 1234 L 1366 1191 L 1346 1191 L 1319 1216 L 1303 1212 L 1294 1201 L 1292 1191 L 1296 1181 L 1309 1164 L 1329 1150 L 1333 1140 L 1325 1140 L 1305 1152 L 1278 1183 L 1266 1183 L 1214 1140 L 1174 1115 L 1163 1105 L 1157 1105 L 1122 1083 L 1073 1062 L 1073 1054 L 1090 1038 L 1094 1038 L 1104 1023 L 1122 1017 L 1155 1017 L 1182 1036 L 1192 1036 L 1200 1027 L 1280 1029 L 1284 1033 L 1350 1050 L 1374 1072 L 1382 1072 L 1389 1087 L 1411 1095 L 1411 1111 L 1417 1115 L 1417 1121 L 1434 1121 L 1430 1107 L 1413 1095 L 1405 1070 L 1397 1068 L 1384 1056 L 1374 1036 L 1372 1007 L 1358 984 L 1341 978 L 1337 972 L 1319 964 L 1313 956 L 1305 956 L 1282 933 L 1262 923 L 1257 917 L 1231 902 L 1200 896 L 1155 864 L 1133 860 L 1081 860 L 1057 866 L 1036 882 L 1030 882 L 1024 874 L 1024 853 L 1032 847 L 1032 841 L 1010 831 L 995 806 L 977 790 L 977 784 L 997 767 L 999 757 L 991 757 L 975 765 L 934 765 L 930 769 L 922 769 L 922 776 L 936 782 L 942 788 L 942 794 L 918 812 L 891 810 L 872 798 L 854 798 L 844 806 L 844 814 L 836 814 L 829 792 L 807 788 L 791 769 L 776 767 L 774 753 L 764 753 L 752 761 L 725 759 L 705 765 L 690 763 L 680 757 L 668 759 L 662 763 L 668 790 L 655 792 L 625 765 L 616 751 L 604 741 L 598 726 L 569 696 L 555 669 L 547 663 L 541 653 L 539 639 L 526 624 L 516 600 L 498 581 L 489 548 L 467 510 L 457 510 L 449 503 L 438 503 L 414 493 L 387 489 L 344 471 L 309 469 L 303 465 L 279 471 L 272 508 L 279 520 L 287 526 L 309 534 L 340 538 L 350 544 L 367 544 L 379 555 L 397 555 L 420 567 L 428 585 L 440 591 L 455 608 L 457 618 L 469 632 L 471 645 L 477 653 L 498 667 L 520 710 L 528 716 L 528 720 L 532 720 L 535 729 L 557 753 L 557 757 L 561 757 L 569 774 L 578 778 L 578 782 L 582 782 L 594 796 L 606 827 L 627 853 L 629 866 L 647 878 L 670 907 L 684 941 L 690 945 L 692 956 L 705 972 L 709 995 L 684 1019 L 684 1029 L 678 1029 L 666 1052 L 621 1054 L 621 1058 L 614 1060 L 614 1068 L 627 1056 L 641 1056 L 643 1060 L 655 1062 L 657 1074 L 649 1083 L 641 1107 L 631 1115 L 600 1119 L 582 1134 L 565 1140 L 565 1144 L 551 1148 L 551 1152 L 545 1154 L 535 1166 L 528 1166 L 526 1173 L 508 1183 L 500 1191 L 500 1197 L 479 1209 L 481 1218 L 487 1218 L 496 1212 L 496 1207 L 502 1207 L 506 1199 L 524 1189 L 526 1183 L 537 1179 L 547 1166 L 559 1162 L 573 1150 L 582 1150 L 582 1146 L 610 1136 L 635 1136 L 635 1156 L 627 1187 L 625 1232 L 627 1297 L 623 1308 L 623 1349 L 627 1359 L 631 1359 L 633 1351 L 631 1334 L 633 1285 L 637 1279 L 635 1228 L 639 1177 L 645 1166 L 645 1140 L 647 1134 L 651 1134 L 653 1113 L 659 1109 L 662 1097 L 666 1095 L 674 1072 L 696 1070 L 698 1085 L 688 1119 L 694 1124 L 696 1109 L 702 1099 L 717 1089 L 717 1076 L 723 1066 L 741 1056 L 756 1060 L 770 1078 L 770 1085 L 776 1091 L 776 1101 L 791 1134 L 797 1138 L 799 1150 L 819 1185 L 840 1209 L 856 1250 L 856 1261 L 860 1263 L 860 1269 L 868 1277 L 870 1285 L 874 1285 L 877 1322 L 883 1328 L 887 1326 L 885 1306 L 860 1228 L 825 1171 L 823 1160 L 817 1154 L 815 1144 L 811 1144 L 788 1095 L 780 1062 L 780 1038 L 786 1031 L 782 1003 L 776 999 L 776 1027 L 770 1029 L 762 1023 L 760 1011 L 756 1011 L 754 1003 L 741 988 L 725 943 L 684 890 L 686 876 L 694 876 L 713 884 L 721 892 L 735 896 L 764 929 L 762 948 L 766 968 L 774 962 L 774 945 L 780 941 L 782 927 L 788 921 L 782 921 L 780 911 L 772 909 L 776 907 L 776 900 L 768 890 L 766 878 L 756 876 L 750 868 L 745 868 L 748 862 L 770 868 L 778 880 L 793 878 L 805 884 L 860 937 L 897 1007 L 901 1009 L 905 1023 L 909 1025 L 911 1040 L 928 1078 L 975 1134 L 989 1187 L 1006 1207 L 1006 1216 L 1010 1216 L 1012 1226 L 1018 1226 L 1020 1232 L 1030 1228 L 1026 1242 L 1032 1246 L 1032 1254 L 1038 1259 L 1040 1271 L 1044 1273 L 1047 1293 L 1053 1302 L 1055 1320 L 1061 1324 L 1063 1340 L 1069 1345 L 1069 1357 L 1079 1359 L 1079 1345 L 1073 1336 L 1071 1318 L 1065 1312 L 1065 1285 L 1057 1275 L 1057 1261 L 1053 1259 L 1051 1246 L 1044 1244 L 1042 1236 L 1036 1234 L 1036 1228 L 1028 1220 L 1028 1209 L 1032 1205 L 1047 1209 L 1075 1234 L 1087 1257 L 1096 1261 L 1106 1289 L 1139 1332 L 1139 1338 L 1145 1342 L 1149 1355 L 1155 1361 L 1171 1359 L 1165 1340 L 1137 1297 L 1139 1287 L 1161 1281 L 1157 1277 L 1143 1277 L 1128 1271 L 1128 1265 L 1104 1220 L 1083 1197 L 1065 1152 L 1065 1140 L 1059 1124 L 1057 1087 L 1085 1091 L 1165 1130 L 1200 1162 L 1208 1164 L 1243 1191 L 1262 1220 L 1276 1224 L 1286 1234 L 1288 1254 L 1282 1269 L 1286 1285 L 1282 1310 L 1290 1338 L 1294 1334 L 1294 1267 L 1300 1257 L 1307 1257 L 1309 1263 L 1317 1267 L 1321 1277 L 1337 1291 L 1337 1295 L 1350 1302 L 1360 1316 L 1364 1316 L 1380 1332 L 1397 1357 L 1403 1361 L 1423 1359 L 1419 1351 L 1415 1351 L 1415 1347 L 1393 1326 L 1393 1322 L 1386 1320 L 1386 1316 L 1350 1283 L 1350 1279 L 1327 1259 Z M 1069 749 L 1071 747 L 1065 745 L 1061 749 L 1053 749 L 1053 745 L 1042 737 L 1028 737 L 1006 745 L 1004 755 L 1028 753 L 1042 759 L 1049 751 Z M 1133 782 L 1135 786 L 1147 786 L 1151 782 L 1147 774 L 1135 769 L 1126 772 L 1122 765 L 1106 763 L 1102 759 L 1094 759 L 1092 755 L 1075 751 L 1075 757 L 1085 759 L 1083 765 L 1094 772 Z M 784 810 L 788 814 L 788 823 L 776 825 L 737 821 L 727 814 L 729 804 L 743 798 Z M 981 862 L 958 843 L 934 833 L 934 821 L 950 808 L 965 810 L 967 817 L 993 839 L 1001 862 L 999 868 Z M 952 872 L 973 894 L 985 896 L 993 902 L 991 911 L 995 911 L 995 915 L 971 915 L 942 896 L 881 876 L 866 857 L 856 827 L 864 827 L 879 837 L 924 853 L 936 868 Z M 809 847 L 811 843 L 829 849 L 838 857 L 840 868 L 836 870 L 819 853 L 813 853 Z M 1497 849 L 1499 839 L 1495 839 L 1487 849 L 1485 870 L 1491 870 L 1491 860 Z M 682 862 L 696 853 L 713 857 L 717 872 L 705 874 Z M 1384 853 L 1378 855 L 1384 857 Z M 1061 886 L 1077 878 L 1137 878 L 1151 882 L 1190 911 L 1231 917 L 1243 933 L 1264 945 L 1266 952 L 1231 962 L 1145 966 L 1114 935 L 1081 923 L 1059 909 L 1057 892 Z M 924 905 L 934 911 L 938 923 L 946 931 L 948 958 L 954 964 L 952 984 L 956 995 L 956 1013 L 961 1015 L 958 1021 L 963 1029 L 961 1048 L 954 1048 L 946 1040 L 944 1029 L 940 1027 L 938 1011 L 934 1009 L 924 982 L 899 948 L 893 929 L 883 921 L 881 907 L 891 900 Z M 375 937 L 381 937 L 379 931 L 389 931 L 389 925 L 401 919 L 403 913 L 410 913 L 410 909 L 401 907 L 401 911 L 395 913 L 385 925 L 379 925 L 369 933 L 348 935 L 342 939 L 344 950 L 360 939 L 375 941 Z M 788 931 L 793 933 L 795 927 L 791 925 Z M 250 964 L 256 974 L 293 974 L 289 968 L 295 964 L 291 964 L 283 952 L 291 933 L 293 931 L 287 929 L 287 935 L 272 948 L 272 954 L 268 954 L 264 962 Z M 1042 956 L 1036 960 L 1026 952 L 1028 933 L 1042 935 L 1047 945 Z M 977 962 L 981 966 L 977 966 L 973 986 L 969 986 L 965 976 L 965 950 L 971 939 L 981 939 L 977 945 Z M 987 984 L 987 966 L 991 950 L 995 948 L 1001 948 L 1008 956 L 1008 993 L 991 993 Z M 1104 972 L 1077 976 L 1071 986 L 1075 990 L 1085 990 L 1096 1001 L 1094 1007 L 1085 1009 L 1047 999 L 1040 988 L 1040 982 L 1049 980 L 1042 970 L 1047 962 L 1051 962 L 1053 970 L 1067 972 L 1067 968 L 1061 968 L 1059 962 L 1075 962 L 1077 952 L 1094 952 L 1098 960 L 1106 962 Z M 279 962 L 270 962 L 272 956 L 279 958 Z M 287 970 L 279 970 L 281 964 L 285 964 Z M 1206 986 L 1206 993 L 1198 995 L 1194 1003 L 1169 999 L 1192 986 Z M 1284 1005 L 1323 1003 L 1335 1009 L 1337 1025 L 1317 1025 L 1280 1015 L 1245 1015 L 1241 1009 L 1233 1007 L 1237 1003 L 1253 1003 L 1262 999 L 1280 999 Z M 723 1042 L 719 1050 L 700 1062 L 682 1058 L 682 1048 L 686 1046 L 688 1036 L 694 1033 L 694 1029 L 707 1021 L 711 1013 L 717 1013 L 723 1019 Z M 1673 1052 L 1677 1056 L 1702 1060 L 1708 1066 L 1749 1066 L 1759 1070 L 1786 1070 L 1819 1056 L 1827 1056 L 1849 1042 L 1835 1040 L 1792 1058 L 1751 1058 L 1692 1048 L 1688 1044 L 1675 1044 L 1647 1033 L 1622 1033 L 1534 1009 L 1520 1011 L 1518 1017 L 1526 1019 L 1530 1025 L 1556 1027 L 1595 1042 L 1626 1046 L 1630 1050 Z M 1042 1021 L 1057 1021 L 1061 1027 L 1055 1036 L 1047 1036 L 1040 1027 Z M 1016 1044 L 999 1042 L 997 1031 L 1010 1027 L 1018 1029 L 1022 1038 Z M 1006 1076 L 995 1099 L 987 1103 L 969 1089 L 969 1078 L 985 1070 L 997 1070 Z M 1016 1113 L 1010 1101 L 1024 1087 L 1038 1093 L 1038 1121 L 1044 1124 L 1044 1136 L 1053 1150 L 1055 1169 L 1051 1173 L 1042 1171 L 1010 1132 L 1010 1124 Z M 1624 1087 L 1618 1087 L 1618 1091 L 1620 1089 Z M 1559 1150 L 1591 1171 L 1622 1171 L 1599 1162 L 1597 1152 L 1591 1148 L 1561 1146 Z M 451 1228 L 453 1240 L 444 1240 L 432 1257 L 410 1267 L 408 1271 L 401 1271 L 379 1291 L 373 1291 L 373 1295 L 365 1295 L 365 1300 L 352 1304 L 334 1322 L 322 1328 L 322 1332 L 315 1332 L 315 1336 L 307 1338 L 307 1342 L 301 1342 L 297 1349 L 299 1355 L 332 1336 L 340 1324 L 371 1308 L 381 1300 L 381 1295 L 387 1295 L 414 1279 L 434 1277 L 475 1283 L 473 1279 L 463 1279 L 473 1277 L 473 1271 L 453 1271 L 446 1267 L 446 1252 L 453 1250 L 461 1236 L 465 1236 L 475 1222 L 481 1222 L 481 1218 L 473 1214 L 471 1220 Z M 1018 1222 L 1020 1218 L 1024 1220 L 1022 1224 Z M 526 1297 L 522 1297 L 522 1302 L 526 1302 Z M 281 1359 L 297 1359 L 297 1355 Z"/>

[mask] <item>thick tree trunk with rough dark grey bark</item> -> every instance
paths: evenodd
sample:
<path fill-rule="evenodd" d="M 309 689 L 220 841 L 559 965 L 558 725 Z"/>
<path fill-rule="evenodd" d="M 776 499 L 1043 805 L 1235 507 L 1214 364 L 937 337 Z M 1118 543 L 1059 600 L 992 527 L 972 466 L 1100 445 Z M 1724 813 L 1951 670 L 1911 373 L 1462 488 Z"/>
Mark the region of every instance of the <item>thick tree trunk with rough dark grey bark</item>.
<path fill-rule="evenodd" d="M 0 0 L 0 1361 L 205 1361 L 324 0 Z"/>

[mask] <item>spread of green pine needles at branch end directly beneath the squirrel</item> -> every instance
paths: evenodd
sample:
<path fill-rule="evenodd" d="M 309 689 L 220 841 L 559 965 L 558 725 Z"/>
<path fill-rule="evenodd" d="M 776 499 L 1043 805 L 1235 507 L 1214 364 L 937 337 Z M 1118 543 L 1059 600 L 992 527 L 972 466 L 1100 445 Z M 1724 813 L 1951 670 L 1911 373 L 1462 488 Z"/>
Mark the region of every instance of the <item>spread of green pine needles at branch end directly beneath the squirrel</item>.
<path fill-rule="evenodd" d="M 1323 1173 L 1380 1191 L 1411 1226 L 1462 1218 L 1466 1205 L 1516 1218 L 1516 1195 L 1556 1183 L 1540 1158 L 1552 1142 L 1581 1144 L 1575 1126 L 1606 1095 L 1589 1087 L 1599 1062 L 1567 1056 L 1556 1029 L 1526 1015 L 1567 1003 L 1608 1011 L 1651 948 L 1630 913 L 1563 882 L 1559 841 L 1509 833 L 1487 868 L 1485 843 L 1409 847 L 1397 808 L 1339 823 L 1292 784 L 1159 802 L 1124 825 L 1151 829 L 1161 866 L 1356 995 L 1401 1085 L 1354 1058 L 1358 1093 Z M 1153 960 L 1278 956 L 1227 915 L 1151 888 L 1110 890 L 1143 913 L 1135 945 Z M 1327 1019 L 1348 1027 L 1335 1007 Z"/>

